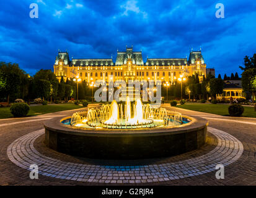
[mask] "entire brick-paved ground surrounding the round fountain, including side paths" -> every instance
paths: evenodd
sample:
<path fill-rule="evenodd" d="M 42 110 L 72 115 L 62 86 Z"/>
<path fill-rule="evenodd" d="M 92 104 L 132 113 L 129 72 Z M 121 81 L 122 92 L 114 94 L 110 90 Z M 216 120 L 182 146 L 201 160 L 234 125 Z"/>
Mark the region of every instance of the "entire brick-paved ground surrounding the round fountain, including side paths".
<path fill-rule="evenodd" d="M 213 114 L 195 113 L 195 111 L 182 111 L 182 113 L 216 118 Z M 71 112 L 53 113 L 49 117 L 66 114 Z M 214 148 L 206 146 L 204 150 L 195 150 L 176 157 L 154 159 L 149 163 L 143 161 L 142 165 L 138 165 L 140 162 L 137 160 L 134 161 L 136 167 L 133 167 L 132 162 L 130 165 L 121 166 L 120 161 L 118 165 L 113 165 L 112 161 L 110 165 L 102 165 L 100 160 L 87 160 L 86 164 L 79 163 L 82 160 L 72 160 L 72 157 L 61 153 L 58 153 L 58 156 L 62 158 L 58 159 L 53 158 L 54 155 L 45 155 L 40 149 L 38 152 L 37 144 L 38 139 L 42 139 L 40 133 L 43 132 L 41 130 L 43 121 L 40 121 L 40 116 L 30 119 L 36 118 L 38 121 L 11 126 L 7 124 L 27 119 L 0 120 L 0 185 L 256 185 L 256 132 L 252 124 L 229 123 L 226 119 L 230 118 L 217 121 L 209 117 L 210 132 L 218 138 L 218 145 L 214 145 Z M 255 119 L 236 119 L 256 123 Z M 1 126 L 1 124 L 6 125 Z M 7 147 L 9 147 L 8 151 Z M 19 166 L 9 160 L 7 152 L 11 160 L 16 160 Z M 35 161 L 41 165 L 39 167 L 42 172 L 39 179 L 32 180 L 29 179 L 27 165 Z M 45 161 L 48 164 L 45 164 Z M 225 179 L 215 178 L 216 163 L 224 163 Z M 22 165 L 25 166 L 20 168 Z M 46 173 L 48 176 L 43 175 Z"/>

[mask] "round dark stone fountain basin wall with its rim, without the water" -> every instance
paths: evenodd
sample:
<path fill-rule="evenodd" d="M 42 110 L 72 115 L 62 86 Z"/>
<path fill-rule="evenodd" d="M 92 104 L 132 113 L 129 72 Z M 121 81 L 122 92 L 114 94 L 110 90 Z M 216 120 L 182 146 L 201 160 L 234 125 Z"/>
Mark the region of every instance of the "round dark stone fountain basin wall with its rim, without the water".
<path fill-rule="evenodd" d="M 200 148 L 206 142 L 208 121 L 190 120 L 175 127 L 146 129 L 82 129 L 53 118 L 45 123 L 45 144 L 69 155 L 100 159 L 159 158 Z"/>

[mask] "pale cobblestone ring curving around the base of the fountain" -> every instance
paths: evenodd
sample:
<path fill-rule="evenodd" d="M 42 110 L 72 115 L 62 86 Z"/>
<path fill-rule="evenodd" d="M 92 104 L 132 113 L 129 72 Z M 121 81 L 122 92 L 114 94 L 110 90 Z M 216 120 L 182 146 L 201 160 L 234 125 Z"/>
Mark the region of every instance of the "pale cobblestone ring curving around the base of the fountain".
<path fill-rule="evenodd" d="M 105 166 L 71 163 L 39 153 L 35 140 L 44 129 L 30 132 L 12 142 L 7 148 L 8 158 L 20 168 L 29 170 L 30 165 L 39 166 L 39 174 L 51 178 L 82 181 L 87 183 L 156 183 L 198 176 L 215 171 L 215 166 L 228 166 L 238 160 L 244 147 L 236 137 L 224 131 L 208 127 L 218 139 L 218 145 L 210 152 L 199 157 L 174 163 L 140 166 Z"/>

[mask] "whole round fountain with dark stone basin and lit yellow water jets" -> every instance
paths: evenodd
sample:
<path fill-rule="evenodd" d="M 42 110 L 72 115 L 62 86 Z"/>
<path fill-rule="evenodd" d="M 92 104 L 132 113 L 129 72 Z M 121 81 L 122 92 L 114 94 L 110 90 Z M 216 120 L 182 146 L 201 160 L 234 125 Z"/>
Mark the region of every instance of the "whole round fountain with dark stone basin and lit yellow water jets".
<path fill-rule="evenodd" d="M 207 121 L 154 108 L 141 100 L 112 101 L 45 123 L 45 144 L 89 158 L 156 158 L 179 155 L 206 142 Z"/>

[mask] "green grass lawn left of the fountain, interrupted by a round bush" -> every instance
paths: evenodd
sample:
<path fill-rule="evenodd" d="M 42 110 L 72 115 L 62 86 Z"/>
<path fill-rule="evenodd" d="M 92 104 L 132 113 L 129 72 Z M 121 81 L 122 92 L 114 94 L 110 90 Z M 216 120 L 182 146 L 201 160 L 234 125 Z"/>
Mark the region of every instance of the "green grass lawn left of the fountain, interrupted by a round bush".
<path fill-rule="evenodd" d="M 83 106 L 74 105 L 74 104 L 60 104 L 60 105 L 38 105 L 38 106 L 30 106 L 30 111 L 27 116 L 37 116 L 45 113 L 53 113 L 56 111 L 66 111 L 66 110 L 75 110 L 83 108 Z M 4 118 L 13 118 L 10 113 L 9 107 L 0 108 L 0 119 Z"/>

